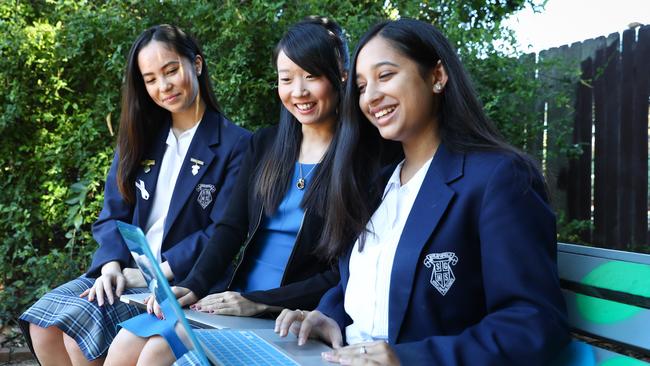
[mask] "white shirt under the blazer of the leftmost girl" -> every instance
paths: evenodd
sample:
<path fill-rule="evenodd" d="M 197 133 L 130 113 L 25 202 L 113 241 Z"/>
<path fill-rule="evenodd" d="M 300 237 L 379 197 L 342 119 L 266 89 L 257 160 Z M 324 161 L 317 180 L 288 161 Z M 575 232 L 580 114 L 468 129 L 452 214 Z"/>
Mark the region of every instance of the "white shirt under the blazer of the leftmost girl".
<path fill-rule="evenodd" d="M 187 155 L 187 150 L 190 148 L 190 144 L 200 123 L 201 121 L 197 122 L 194 127 L 181 133 L 178 139 L 171 128 L 167 135 L 167 147 L 165 148 L 162 163 L 160 163 L 156 192 L 153 195 L 151 212 L 147 219 L 147 226 L 145 226 L 145 235 L 149 242 L 149 247 L 151 248 L 151 252 L 156 256 L 156 259 L 158 259 L 158 262 L 162 261 L 161 248 L 163 234 L 165 232 L 165 219 L 169 212 L 169 204 L 172 200 L 176 180 L 185 160 L 185 155 Z M 192 174 L 192 172 L 188 170 L 183 172 L 183 174 Z"/>

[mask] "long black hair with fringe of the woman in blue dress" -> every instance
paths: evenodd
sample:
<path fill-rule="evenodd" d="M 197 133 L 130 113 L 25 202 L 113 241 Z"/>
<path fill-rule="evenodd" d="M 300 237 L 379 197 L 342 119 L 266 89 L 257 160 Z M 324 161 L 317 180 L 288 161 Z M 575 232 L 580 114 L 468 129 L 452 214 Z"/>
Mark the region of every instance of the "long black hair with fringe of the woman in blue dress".
<path fill-rule="evenodd" d="M 341 27 L 331 19 L 311 16 L 287 30 L 273 52 L 277 67 L 280 52 L 296 65 L 315 75 L 324 76 L 332 85 L 339 105 L 343 94 L 343 78 L 349 65 L 348 46 Z M 337 122 L 338 124 L 338 122 Z M 301 124 L 283 105 L 280 106 L 278 133 L 269 154 L 257 171 L 256 193 L 261 197 L 265 213 L 272 215 L 290 185 L 295 162 L 302 142 Z M 324 215 L 327 201 L 327 182 L 331 174 L 333 149 L 328 148 L 314 179 L 308 186 L 301 207 Z"/>

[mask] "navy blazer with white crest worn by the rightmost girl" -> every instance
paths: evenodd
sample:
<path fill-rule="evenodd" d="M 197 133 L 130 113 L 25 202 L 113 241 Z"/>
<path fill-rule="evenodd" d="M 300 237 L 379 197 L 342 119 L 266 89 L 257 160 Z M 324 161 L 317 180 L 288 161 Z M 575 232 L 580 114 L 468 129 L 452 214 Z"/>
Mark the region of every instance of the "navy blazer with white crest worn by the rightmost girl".
<path fill-rule="evenodd" d="M 318 310 L 337 321 L 341 281 Z M 388 342 L 403 365 L 542 365 L 569 341 L 555 216 L 520 158 L 453 153 L 431 162 L 395 254 Z"/>

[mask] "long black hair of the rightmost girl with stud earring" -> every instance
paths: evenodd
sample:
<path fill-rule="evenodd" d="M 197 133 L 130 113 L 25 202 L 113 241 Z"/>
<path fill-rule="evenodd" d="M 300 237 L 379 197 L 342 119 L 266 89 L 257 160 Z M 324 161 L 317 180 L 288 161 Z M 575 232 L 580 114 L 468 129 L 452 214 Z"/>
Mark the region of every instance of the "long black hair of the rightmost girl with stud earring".
<path fill-rule="evenodd" d="M 534 164 L 519 150 L 507 144 L 483 111 L 476 92 L 456 51 L 433 25 L 413 20 L 384 21 L 366 32 L 352 58 L 345 99 L 341 103 L 341 124 L 330 180 L 330 196 L 319 247 L 330 258 L 345 252 L 352 240 L 360 238 L 363 247 L 365 227 L 380 199 L 380 168 L 383 151 L 394 142 L 383 140 L 359 107 L 356 62 L 359 51 L 375 37 L 382 37 L 402 55 L 418 65 L 422 76 L 438 62 L 448 80 L 439 94 L 437 121 L 441 141 L 452 151 L 494 150 L 512 153 Z"/>

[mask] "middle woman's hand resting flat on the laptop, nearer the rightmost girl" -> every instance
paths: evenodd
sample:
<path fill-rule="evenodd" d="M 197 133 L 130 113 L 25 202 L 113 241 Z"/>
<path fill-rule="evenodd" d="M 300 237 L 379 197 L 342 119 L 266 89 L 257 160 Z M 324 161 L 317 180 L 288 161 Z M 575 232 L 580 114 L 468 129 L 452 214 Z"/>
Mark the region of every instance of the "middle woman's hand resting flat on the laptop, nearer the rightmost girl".
<path fill-rule="evenodd" d="M 236 316 L 253 316 L 269 310 L 268 305 L 252 302 L 234 291 L 208 295 L 190 308 L 204 313 Z"/>

